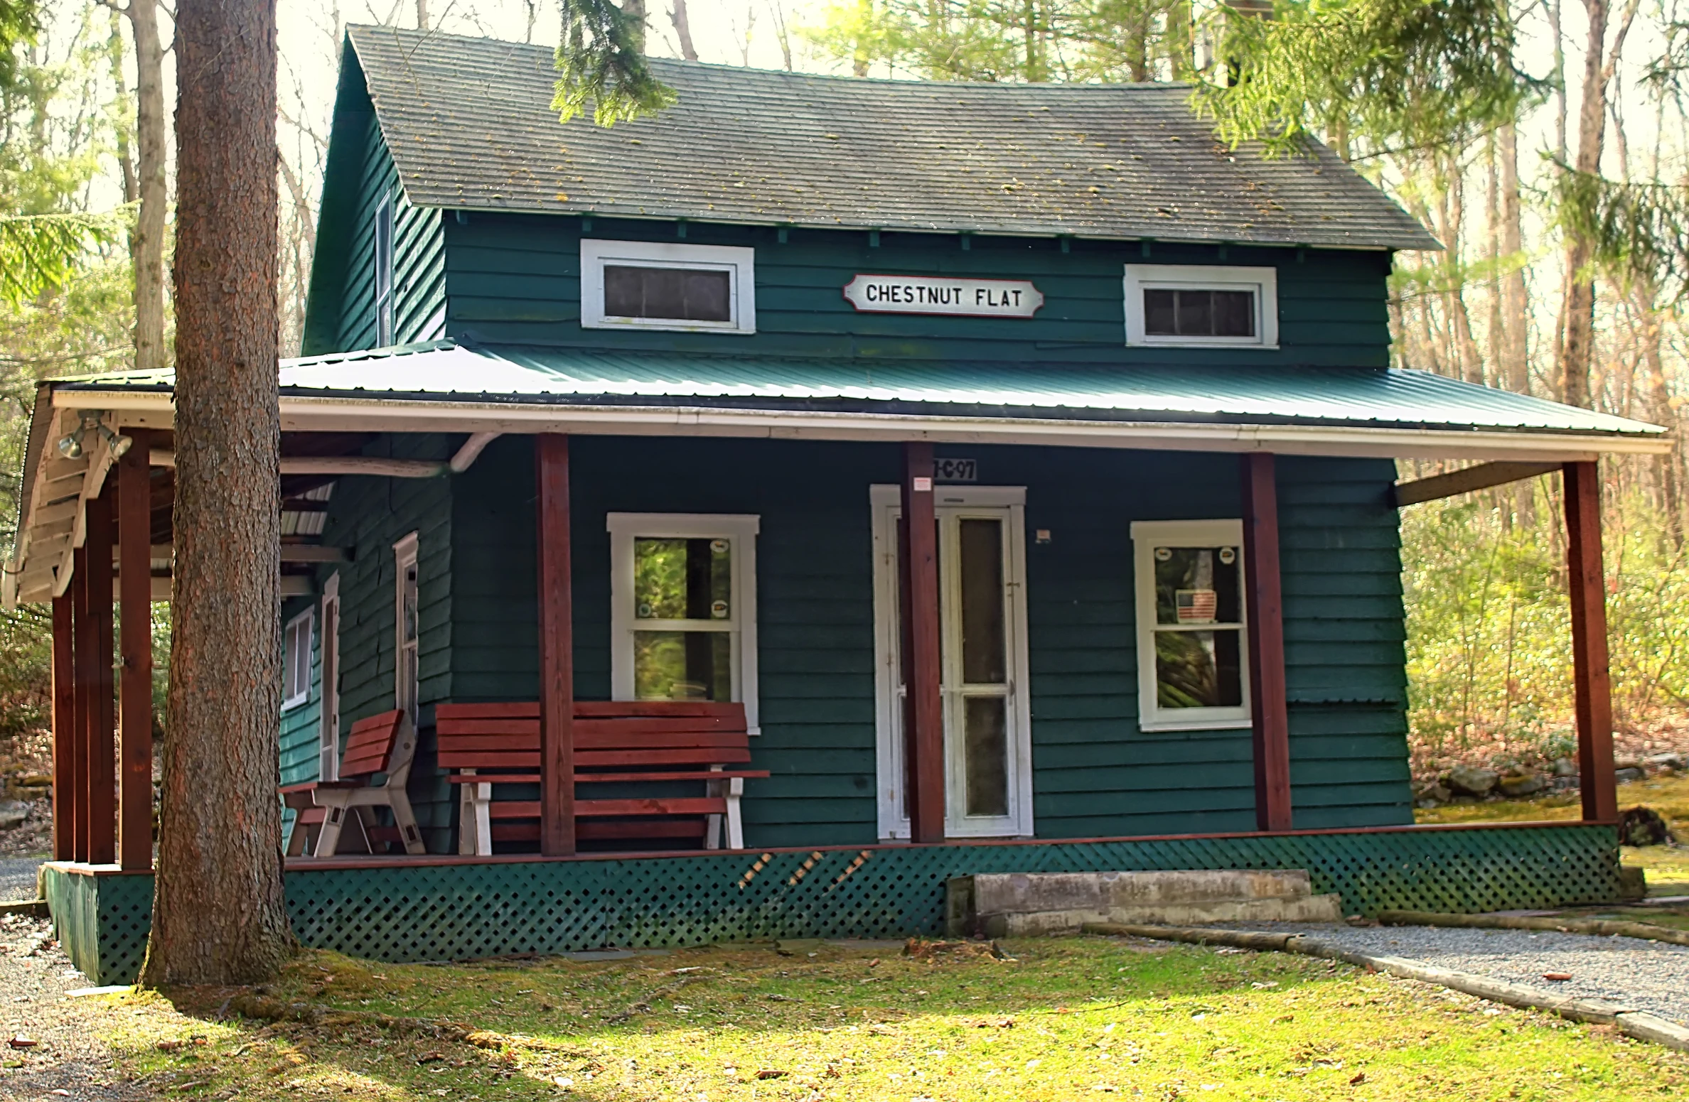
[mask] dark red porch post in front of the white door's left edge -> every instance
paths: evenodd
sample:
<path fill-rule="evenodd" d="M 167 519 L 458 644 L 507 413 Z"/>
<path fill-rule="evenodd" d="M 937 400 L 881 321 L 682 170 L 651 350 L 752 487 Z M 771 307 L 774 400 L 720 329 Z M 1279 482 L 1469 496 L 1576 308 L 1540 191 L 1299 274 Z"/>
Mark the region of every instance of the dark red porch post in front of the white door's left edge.
<path fill-rule="evenodd" d="M 939 548 L 932 446 L 904 446 L 904 761 L 909 837 L 944 840 L 944 700 L 939 670 Z"/>

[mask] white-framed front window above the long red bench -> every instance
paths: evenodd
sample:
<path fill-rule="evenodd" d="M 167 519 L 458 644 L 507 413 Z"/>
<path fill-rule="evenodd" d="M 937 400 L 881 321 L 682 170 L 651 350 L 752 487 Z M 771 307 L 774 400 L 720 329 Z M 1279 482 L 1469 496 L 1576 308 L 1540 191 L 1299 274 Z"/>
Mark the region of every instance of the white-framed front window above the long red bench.
<path fill-rule="evenodd" d="M 610 513 L 610 695 L 738 700 L 757 724 L 758 518 Z"/>

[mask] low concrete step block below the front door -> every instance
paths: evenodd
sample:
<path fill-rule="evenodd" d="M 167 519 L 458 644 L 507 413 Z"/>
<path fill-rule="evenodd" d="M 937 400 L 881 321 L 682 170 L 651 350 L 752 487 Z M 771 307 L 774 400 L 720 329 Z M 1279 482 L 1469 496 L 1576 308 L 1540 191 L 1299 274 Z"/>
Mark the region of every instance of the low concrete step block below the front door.
<path fill-rule="evenodd" d="M 1076 933 L 1089 921 L 1201 925 L 1339 921 L 1341 898 L 1316 896 L 1306 869 L 993 872 L 946 883 L 951 937 Z"/>

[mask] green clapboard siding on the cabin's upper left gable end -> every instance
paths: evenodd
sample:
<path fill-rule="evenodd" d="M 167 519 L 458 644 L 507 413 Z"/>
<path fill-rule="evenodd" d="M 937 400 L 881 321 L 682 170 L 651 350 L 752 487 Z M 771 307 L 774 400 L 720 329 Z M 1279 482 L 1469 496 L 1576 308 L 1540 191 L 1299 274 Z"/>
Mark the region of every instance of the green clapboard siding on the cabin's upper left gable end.
<path fill-rule="evenodd" d="M 394 343 L 437 339 L 446 321 L 444 214 L 405 197 L 363 74 L 346 51 L 306 307 L 306 356 L 375 346 L 375 211 L 383 196 L 394 196 Z"/>

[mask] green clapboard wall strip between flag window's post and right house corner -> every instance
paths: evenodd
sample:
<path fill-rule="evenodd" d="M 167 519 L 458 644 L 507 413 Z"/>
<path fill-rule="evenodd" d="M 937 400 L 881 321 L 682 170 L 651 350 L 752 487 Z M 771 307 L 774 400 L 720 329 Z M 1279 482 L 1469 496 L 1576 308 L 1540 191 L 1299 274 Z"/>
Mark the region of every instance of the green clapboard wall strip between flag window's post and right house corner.
<path fill-rule="evenodd" d="M 1414 820 L 1388 459 L 1279 459 L 1295 827 Z"/>

